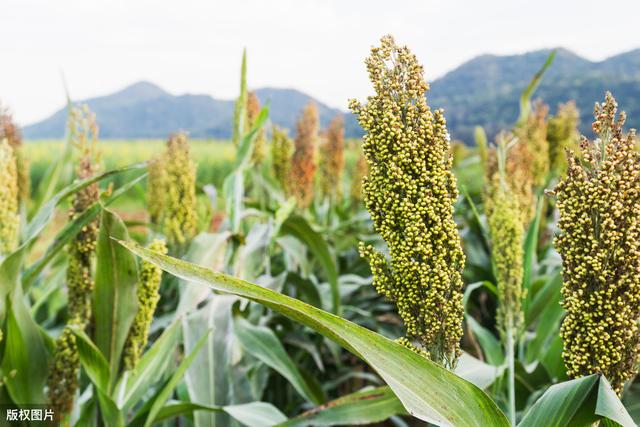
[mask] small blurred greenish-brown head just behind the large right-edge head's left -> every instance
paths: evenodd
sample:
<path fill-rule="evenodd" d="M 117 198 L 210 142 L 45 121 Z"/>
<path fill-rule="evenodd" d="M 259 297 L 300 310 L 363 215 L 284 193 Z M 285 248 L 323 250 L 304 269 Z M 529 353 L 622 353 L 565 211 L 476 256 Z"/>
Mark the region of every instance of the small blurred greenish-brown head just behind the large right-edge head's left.
<path fill-rule="evenodd" d="M 549 141 L 549 169 L 555 175 L 563 175 L 567 169 L 565 151 L 578 148 L 580 115 L 574 101 L 558 106 L 555 116 L 549 118 L 547 140 Z"/>

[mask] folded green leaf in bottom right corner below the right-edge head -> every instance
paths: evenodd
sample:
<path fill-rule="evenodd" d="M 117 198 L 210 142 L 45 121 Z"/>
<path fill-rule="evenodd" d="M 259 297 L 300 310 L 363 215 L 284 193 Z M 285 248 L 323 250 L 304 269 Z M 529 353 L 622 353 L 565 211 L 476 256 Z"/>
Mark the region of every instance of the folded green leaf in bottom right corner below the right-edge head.
<path fill-rule="evenodd" d="M 549 387 L 518 426 L 588 427 L 603 419 L 623 427 L 636 425 L 609 382 L 590 375 Z"/>

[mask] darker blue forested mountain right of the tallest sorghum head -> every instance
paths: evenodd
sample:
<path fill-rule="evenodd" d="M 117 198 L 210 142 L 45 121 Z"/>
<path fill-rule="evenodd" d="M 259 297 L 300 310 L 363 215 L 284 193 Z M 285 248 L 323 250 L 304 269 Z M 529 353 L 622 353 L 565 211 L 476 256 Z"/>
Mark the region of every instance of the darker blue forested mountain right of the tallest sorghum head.
<path fill-rule="evenodd" d="M 493 137 L 513 125 L 520 93 L 550 52 L 479 56 L 433 81 L 427 98 L 432 106 L 444 108 L 453 138 L 472 142 L 476 125 L 484 126 Z M 560 48 L 534 98 L 544 100 L 552 112 L 558 103 L 575 100 L 580 130 L 591 135 L 593 105 L 604 100 L 607 90 L 626 111 L 627 127 L 640 127 L 640 49 L 591 62 Z"/>

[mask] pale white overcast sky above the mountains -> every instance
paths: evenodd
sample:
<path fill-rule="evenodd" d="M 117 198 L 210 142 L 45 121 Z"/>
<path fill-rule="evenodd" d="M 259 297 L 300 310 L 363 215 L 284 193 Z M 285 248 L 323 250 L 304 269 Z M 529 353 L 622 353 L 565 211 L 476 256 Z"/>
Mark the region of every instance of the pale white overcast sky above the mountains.
<path fill-rule="evenodd" d="M 0 102 L 17 121 L 139 80 L 231 99 L 242 49 L 249 86 L 291 87 L 346 110 L 370 85 L 384 34 L 428 80 L 484 53 L 566 47 L 590 60 L 640 47 L 638 0 L 0 0 Z M 625 18 L 636 17 L 636 18 Z"/>

